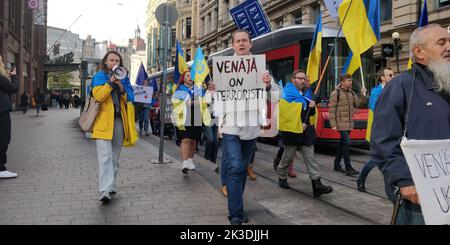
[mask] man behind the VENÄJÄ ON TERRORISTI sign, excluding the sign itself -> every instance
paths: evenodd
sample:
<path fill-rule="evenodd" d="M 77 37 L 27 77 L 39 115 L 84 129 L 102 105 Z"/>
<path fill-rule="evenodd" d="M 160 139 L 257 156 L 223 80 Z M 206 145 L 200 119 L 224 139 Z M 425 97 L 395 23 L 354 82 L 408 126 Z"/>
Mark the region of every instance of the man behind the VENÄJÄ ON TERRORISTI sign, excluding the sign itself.
<path fill-rule="evenodd" d="M 250 33 L 246 30 L 237 30 L 232 34 L 232 47 L 235 56 L 251 55 L 252 47 Z M 272 77 L 268 72 L 264 73 L 262 81 L 266 90 L 271 90 Z M 257 125 L 249 125 L 248 119 L 262 118 L 262 112 L 258 110 L 225 113 L 219 119 L 220 132 L 222 133 L 222 165 L 226 168 L 225 183 L 228 194 L 228 219 L 232 225 L 241 225 L 247 221 L 244 212 L 243 193 L 247 180 L 247 166 L 251 161 L 255 150 L 256 138 L 259 137 L 262 122 Z M 247 120 L 246 120 L 247 119 Z M 238 126 L 244 123 L 242 126 Z"/>

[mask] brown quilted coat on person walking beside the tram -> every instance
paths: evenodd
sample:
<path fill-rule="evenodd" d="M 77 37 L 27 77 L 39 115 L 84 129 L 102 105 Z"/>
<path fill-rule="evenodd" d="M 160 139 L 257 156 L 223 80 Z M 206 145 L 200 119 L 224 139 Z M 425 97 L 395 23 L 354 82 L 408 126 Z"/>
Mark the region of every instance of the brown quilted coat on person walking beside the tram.
<path fill-rule="evenodd" d="M 331 93 L 329 117 L 331 128 L 351 131 L 354 128 L 353 114 L 357 107 L 357 96 L 353 90 L 338 87 Z"/>

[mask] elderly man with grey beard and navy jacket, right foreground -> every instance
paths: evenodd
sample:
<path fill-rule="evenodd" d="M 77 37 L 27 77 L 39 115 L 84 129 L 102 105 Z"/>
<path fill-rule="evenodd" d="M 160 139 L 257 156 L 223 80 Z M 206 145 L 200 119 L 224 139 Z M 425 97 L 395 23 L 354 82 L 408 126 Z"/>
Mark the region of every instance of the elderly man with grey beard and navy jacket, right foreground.
<path fill-rule="evenodd" d="M 417 28 L 410 48 L 414 65 L 383 90 L 374 115 L 382 120 L 374 120 L 370 145 L 386 194 L 394 201 L 394 190 L 399 190 L 403 198 L 397 224 L 406 225 L 424 224 L 424 219 L 400 140 L 406 117 L 409 139 L 450 139 L 450 34 L 436 24 Z"/>

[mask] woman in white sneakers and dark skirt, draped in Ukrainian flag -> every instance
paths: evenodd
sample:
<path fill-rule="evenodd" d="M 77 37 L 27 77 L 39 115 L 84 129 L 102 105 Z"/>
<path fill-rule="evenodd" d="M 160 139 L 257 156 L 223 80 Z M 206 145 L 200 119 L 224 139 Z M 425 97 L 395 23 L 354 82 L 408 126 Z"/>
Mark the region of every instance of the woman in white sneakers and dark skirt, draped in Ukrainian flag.
<path fill-rule="evenodd" d="M 178 87 L 172 96 L 173 116 L 177 126 L 178 140 L 181 141 L 182 172 L 194 170 L 194 153 L 202 134 L 202 125 L 209 126 L 211 115 L 204 100 L 205 89 L 192 81 L 191 72 L 181 74 Z"/>

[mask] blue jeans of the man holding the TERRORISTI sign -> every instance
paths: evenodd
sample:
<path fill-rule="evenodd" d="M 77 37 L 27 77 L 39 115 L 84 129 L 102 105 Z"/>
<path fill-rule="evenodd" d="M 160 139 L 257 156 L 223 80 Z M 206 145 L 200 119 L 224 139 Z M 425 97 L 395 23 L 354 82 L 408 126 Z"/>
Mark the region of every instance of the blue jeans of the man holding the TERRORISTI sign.
<path fill-rule="evenodd" d="M 223 135 L 222 169 L 226 169 L 229 220 L 244 218 L 243 194 L 247 181 L 247 166 L 255 146 L 256 139 L 241 140 L 237 135 Z"/>

